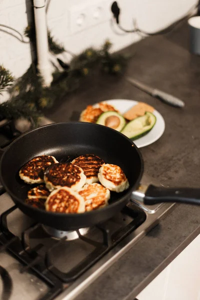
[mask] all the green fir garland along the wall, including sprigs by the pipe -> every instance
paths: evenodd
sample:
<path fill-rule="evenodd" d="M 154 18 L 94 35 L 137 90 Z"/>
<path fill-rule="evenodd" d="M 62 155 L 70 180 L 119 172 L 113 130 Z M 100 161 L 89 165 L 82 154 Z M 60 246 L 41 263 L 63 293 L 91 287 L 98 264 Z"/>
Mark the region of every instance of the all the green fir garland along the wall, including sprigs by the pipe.
<path fill-rule="evenodd" d="M 35 43 L 34 27 L 26 27 L 24 33 Z M 63 45 L 54 40 L 49 30 L 48 43 L 49 50 L 54 54 L 65 51 Z M 121 54 L 111 54 L 110 47 L 111 43 L 106 40 L 100 49 L 89 47 L 79 55 L 73 56 L 70 66 L 63 69 L 63 72 L 53 74 L 50 87 L 43 87 L 42 77 L 37 73 L 36 64 L 32 63 L 10 88 L 10 99 L 0 104 L 0 117 L 13 119 L 24 117 L 31 119 L 36 125 L 44 108 L 52 106 L 58 95 L 62 97 L 77 89 L 83 78 L 92 75 L 96 68 L 102 73 L 121 75 L 125 69 L 127 57 Z M 1 76 L 0 71 L 0 80 L 3 78 Z M 8 87 L 13 81 L 9 71 L 6 73 L 6 78 Z M 6 80 L 4 79 L 4 82 Z"/>

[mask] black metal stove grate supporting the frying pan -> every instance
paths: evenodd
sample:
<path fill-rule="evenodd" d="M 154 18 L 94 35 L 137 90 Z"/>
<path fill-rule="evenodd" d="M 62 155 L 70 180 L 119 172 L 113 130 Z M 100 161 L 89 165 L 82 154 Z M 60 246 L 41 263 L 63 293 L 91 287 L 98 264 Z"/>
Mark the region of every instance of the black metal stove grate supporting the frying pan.
<path fill-rule="evenodd" d="M 87 257 L 85 257 L 85 259 L 75 265 L 70 271 L 64 273 L 53 265 L 51 255 L 52 250 L 55 247 L 59 246 L 63 241 L 66 241 L 66 237 L 55 240 L 53 246 L 49 247 L 45 251 L 44 255 L 41 255 L 40 249 L 43 247 L 42 243 L 38 243 L 34 247 L 31 247 L 30 245 L 30 235 L 35 230 L 42 230 L 41 224 L 33 224 L 28 229 L 21 232 L 21 238 L 15 236 L 8 229 L 7 216 L 16 208 L 16 205 L 14 205 L 3 212 L 0 216 L 0 251 L 6 250 L 13 255 L 22 264 L 21 272 L 30 269 L 51 287 L 42 300 L 53 299 L 62 290 L 63 282 L 67 283 L 64 285 L 66 288 L 70 282 L 79 277 L 125 236 L 143 223 L 146 217 L 143 210 L 136 206 L 133 206 L 132 208 L 132 204 L 128 207 L 127 204 L 127 206 L 123 209 L 123 214 L 131 217 L 132 220 L 128 224 L 120 227 L 113 233 L 110 233 L 106 222 L 96 226 L 96 229 L 102 234 L 102 242 L 83 236 L 80 234 L 79 230 L 77 230 L 76 232 L 79 239 L 83 240 L 85 243 L 92 244 L 95 248 Z M 51 237 L 49 236 L 49 238 Z"/>

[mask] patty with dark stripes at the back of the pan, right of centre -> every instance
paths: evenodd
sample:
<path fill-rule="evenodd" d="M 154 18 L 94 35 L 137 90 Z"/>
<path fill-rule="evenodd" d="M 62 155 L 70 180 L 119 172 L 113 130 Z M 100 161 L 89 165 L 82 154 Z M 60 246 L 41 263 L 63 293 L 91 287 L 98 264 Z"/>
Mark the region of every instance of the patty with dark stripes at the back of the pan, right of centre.
<path fill-rule="evenodd" d="M 104 161 L 94 154 L 85 154 L 73 159 L 71 163 L 81 167 L 86 176 L 86 183 L 92 183 L 98 181 L 98 170 Z"/>

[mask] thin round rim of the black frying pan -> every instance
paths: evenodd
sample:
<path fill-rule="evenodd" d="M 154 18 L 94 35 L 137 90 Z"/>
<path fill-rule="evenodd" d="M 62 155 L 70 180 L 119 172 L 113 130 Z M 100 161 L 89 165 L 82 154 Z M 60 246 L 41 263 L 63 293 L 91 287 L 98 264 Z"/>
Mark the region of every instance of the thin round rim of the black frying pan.
<path fill-rule="evenodd" d="M 133 147 L 136 148 L 136 151 L 137 151 L 137 154 L 139 155 L 139 158 L 140 158 L 140 162 L 141 162 L 141 168 L 140 168 L 140 173 L 138 174 L 138 177 L 134 183 L 133 186 L 131 186 L 130 188 L 128 188 L 127 192 L 123 194 L 123 196 L 113 202 L 113 203 L 110 203 L 108 204 L 107 206 L 105 207 L 102 207 L 100 209 L 95 209 L 95 210 L 90 210 L 90 211 L 85 211 L 85 212 L 82 212 L 82 213 L 68 213 L 68 215 L 72 218 L 75 218 L 75 217 L 78 217 L 79 215 L 92 215 L 92 214 L 95 214 L 97 213 L 97 211 L 101 211 L 103 213 L 103 211 L 112 208 L 112 207 L 115 207 L 117 206 L 118 202 L 123 202 L 124 201 L 124 197 L 128 196 L 128 194 L 131 194 L 133 190 L 135 190 L 137 188 L 137 186 L 139 185 L 140 183 L 140 180 L 141 180 L 141 177 L 143 175 L 143 170 L 144 170 L 144 161 L 143 161 L 143 157 L 140 153 L 140 150 L 138 149 L 138 147 L 135 145 L 135 143 L 129 139 L 128 137 L 126 137 L 124 134 L 122 134 L 121 132 L 119 131 L 116 131 L 115 129 L 112 129 L 110 127 L 106 127 L 104 125 L 100 125 L 100 124 L 95 124 L 95 123 L 90 123 L 90 122 L 81 122 L 81 121 L 67 121 L 67 122 L 57 122 L 57 123 L 51 123 L 51 124 L 47 124 L 47 125 L 43 125 L 43 126 L 40 126 L 40 127 L 37 127 L 37 128 L 34 128 L 34 129 L 31 129 L 31 130 L 28 130 L 26 132 L 24 132 L 23 134 L 21 134 L 20 136 L 18 136 L 14 141 L 12 141 L 8 147 L 6 148 L 6 150 L 3 152 L 2 156 L 1 156 L 1 159 L 0 159 L 0 181 L 4 187 L 4 189 L 7 191 L 7 193 L 10 195 L 10 197 L 15 200 L 16 202 L 19 202 L 21 203 L 22 205 L 24 205 L 25 207 L 28 207 L 29 209 L 31 209 L 32 211 L 37 211 L 40 210 L 41 213 L 46 213 L 47 215 L 54 215 L 54 216 L 59 216 L 59 217 L 66 217 L 67 213 L 63 213 L 63 212 L 52 212 L 52 211 L 46 211 L 46 210 L 42 210 L 42 209 L 39 209 L 39 208 L 36 208 L 36 207 L 33 207 L 31 205 L 28 205 L 27 203 L 25 203 L 22 199 L 20 199 L 19 197 L 17 197 L 14 193 L 12 193 L 11 191 L 9 191 L 9 188 L 7 188 L 4 180 L 3 180 L 3 175 L 2 175 L 2 168 L 1 168 L 1 164 L 2 164 L 2 160 L 3 160 L 3 157 L 4 155 L 6 154 L 6 152 L 10 149 L 10 147 L 15 143 L 17 142 L 18 140 L 20 140 L 23 136 L 29 134 L 30 132 L 33 132 L 33 131 L 37 131 L 37 130 L 40 130 L 40 128 L 43 128 L 43 127 L 51 127 L 51 126 L 59 126 L 60 124 L 89 124 L 89 126 L 96 126 L 96 127 L 104 127 L 106 128 L 106 130 L 110 130 L 110 131 L 113 131 L 113 132 L 117 132 L 117 134 L 120 134 L 123 138 L 125 138 L 131 145 L 133 145 Z M 31 186 L 31 185 L 30 185 Z M 17 203 L 16 203 L 17 205 Z"/>

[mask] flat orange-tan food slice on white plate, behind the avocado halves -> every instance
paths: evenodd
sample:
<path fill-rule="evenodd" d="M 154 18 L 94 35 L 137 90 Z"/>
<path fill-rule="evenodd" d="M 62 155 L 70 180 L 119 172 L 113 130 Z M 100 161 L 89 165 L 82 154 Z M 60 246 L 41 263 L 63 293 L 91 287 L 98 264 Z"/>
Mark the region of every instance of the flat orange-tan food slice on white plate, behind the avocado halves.
<path fill-rule="evenodd" d="M 135 117 L 142 116 L 146 111 L 153 112 L 154 108 L 146 103 L 138 102 L 123 114 L 127 120 L 133 120 Z"/>

